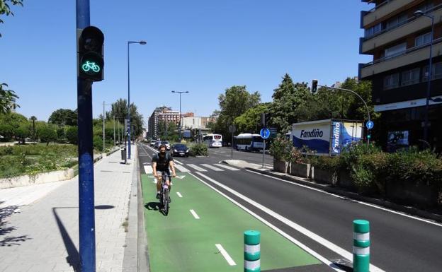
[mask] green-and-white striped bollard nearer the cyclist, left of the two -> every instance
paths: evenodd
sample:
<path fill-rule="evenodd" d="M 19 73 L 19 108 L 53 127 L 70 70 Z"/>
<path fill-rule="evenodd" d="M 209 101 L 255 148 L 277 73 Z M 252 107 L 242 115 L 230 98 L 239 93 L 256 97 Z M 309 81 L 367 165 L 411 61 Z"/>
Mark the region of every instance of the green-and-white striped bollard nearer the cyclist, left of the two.
<path fill-rule="evenodd" d="M 261 271 L 261 233 L 256 230 L 244 232 L 244 272 Z"/>

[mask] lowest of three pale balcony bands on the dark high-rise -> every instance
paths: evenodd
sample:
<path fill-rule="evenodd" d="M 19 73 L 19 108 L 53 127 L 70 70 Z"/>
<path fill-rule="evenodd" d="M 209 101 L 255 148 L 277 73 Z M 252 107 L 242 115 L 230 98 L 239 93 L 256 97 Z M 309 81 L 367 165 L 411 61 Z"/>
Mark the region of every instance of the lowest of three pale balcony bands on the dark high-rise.
<path fill-rule="evenodd" d="M 442 54 L 442 38 L 433 40 L 433 57 L 440 56 Z M 377 73 L 390 71 L 397 69 L 398 67 L 406 66 L 408 64 L 414 64 L 419 61 L 429 59 L 430 47 L 429 44 L 419 47 L 413 47 L 407 51 L 401 52 L 388 58 L 377 59 L 371 61 L 368 64 L 361 65 L 360 77 L 367 78 Z"/>

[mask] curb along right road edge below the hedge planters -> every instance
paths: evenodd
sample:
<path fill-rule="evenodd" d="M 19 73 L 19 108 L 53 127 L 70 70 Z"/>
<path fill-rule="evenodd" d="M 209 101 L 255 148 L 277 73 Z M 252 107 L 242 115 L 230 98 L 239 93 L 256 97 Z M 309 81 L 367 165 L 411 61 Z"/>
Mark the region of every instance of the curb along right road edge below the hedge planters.
<path fill-rule="evenodd" d="M 275 172 L 271 172 L 271 170 L 259 170 L 252 167 L 245 167 L 246 170 L 251 170 L 254 172 L 259 172 L 263 175 L 268 175 L 271 177 L 278 177 L 280 179 L 285 179 L 289 182 L 295 182 L 298 184 L 302 184 L 308 187 L 314 187 L 317 189 L 321 189 L 322 191 L 327 191 L 328 193 L 337 194 L 339 196 L 345 196 L 348 199 L 358 200 L 358 201 L 364 201 L 367 203 L 372 203 L 378 206 L 382 206 L 385 208 L 390 208 L 395 211 L 400 211 L 402 213 L 408 213 L 409 215 L 416 215 L 421 218 L 428 218 L 437 222 L 442 222 L 442 215 L 438 215 L 435 213 L 430 213 L 428 211 L 423 211 L 419 208 L 413 208 L 413 207 L 407 207 L 402 206 L 396 203 L 392 203 L 390 201 L 385 201 L 382 199 L 373 199 L 368 196 L 361 196 L 360 194 L 353 193 L 351 191 L 346 191 L 344 189 L 339 189 L 336 187 L 330 187 L 329 185 L 325 184 L 317 184 L 314 182 L 307 181 L 307 179 L 302 179 L 301 177 L 296 176 L 288 176 L 288 175 L 278 175 Z"/>

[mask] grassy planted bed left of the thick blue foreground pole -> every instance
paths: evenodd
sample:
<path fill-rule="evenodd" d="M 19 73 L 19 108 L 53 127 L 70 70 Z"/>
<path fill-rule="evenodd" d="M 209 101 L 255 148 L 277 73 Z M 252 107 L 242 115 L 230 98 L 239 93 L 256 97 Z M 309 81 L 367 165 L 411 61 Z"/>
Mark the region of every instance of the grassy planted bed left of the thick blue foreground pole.
<path fill-rule="evenodd" d="M 45 143 L 0 146 L 0 178 L 64 170 L 77 163 L 77 146 Z"/>

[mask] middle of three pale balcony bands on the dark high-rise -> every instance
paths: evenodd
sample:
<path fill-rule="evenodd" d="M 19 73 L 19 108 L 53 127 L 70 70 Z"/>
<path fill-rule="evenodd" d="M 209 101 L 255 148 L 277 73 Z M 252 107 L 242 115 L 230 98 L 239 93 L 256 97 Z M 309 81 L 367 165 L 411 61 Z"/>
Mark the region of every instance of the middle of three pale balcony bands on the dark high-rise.
<path fill-rule="evenodd" d="M 435 6 L 432 9 L 432 12 L 428 14 L 434 16 L 435 24 L 441 22 L 442 5 Z M 403 39 L 404 37 L 412 35 L 414 32 L 430 27 L 431 27 L 431 20 L 429 20 L 429 18 L 426 18 L 425 16 L 421 16 L 419 18 L 416 17 L 409 18 L 407 23 L 403 23 L 402 25 L 397 25 L 395 28 L 382 30 L 382 32 L 372 37 L 361 39 L 362 42 L 361 54 L 370 54 L 370 52 L 372 52 L 373 49 L 385 46 L 390 42 Z"/>

